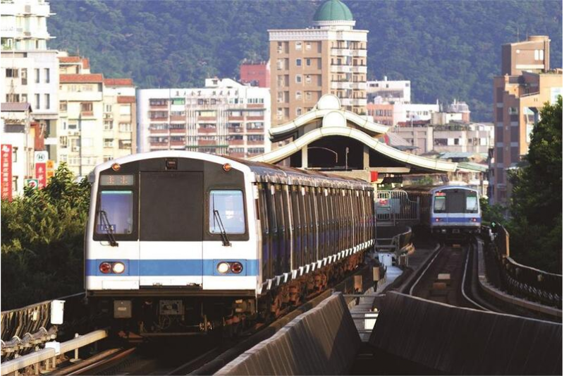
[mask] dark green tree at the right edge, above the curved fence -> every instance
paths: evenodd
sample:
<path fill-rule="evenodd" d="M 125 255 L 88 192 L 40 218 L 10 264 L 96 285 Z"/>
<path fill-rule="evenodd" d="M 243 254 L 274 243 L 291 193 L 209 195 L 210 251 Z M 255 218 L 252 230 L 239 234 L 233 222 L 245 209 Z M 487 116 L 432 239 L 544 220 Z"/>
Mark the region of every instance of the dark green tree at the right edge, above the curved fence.
<path fill-rule="evenodd" d="M 523 166 L 510 173 L 511 254 L 558 272 L 562 254 L 562 97 L 545 104 Z"/>

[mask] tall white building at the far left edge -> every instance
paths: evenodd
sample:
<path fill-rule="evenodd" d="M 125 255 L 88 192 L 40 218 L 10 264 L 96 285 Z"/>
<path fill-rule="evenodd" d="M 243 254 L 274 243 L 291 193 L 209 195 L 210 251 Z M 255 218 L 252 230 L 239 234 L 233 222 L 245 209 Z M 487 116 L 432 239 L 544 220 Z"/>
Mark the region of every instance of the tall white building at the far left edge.
<path fill-rule="evenodd" d="M 59 117 L 59 61 L 57 51 L 47 49 L 49 3 L 2 0 L 0 8 L 0 100 L 30 103 L 34 121 L 52 133 Z"/>

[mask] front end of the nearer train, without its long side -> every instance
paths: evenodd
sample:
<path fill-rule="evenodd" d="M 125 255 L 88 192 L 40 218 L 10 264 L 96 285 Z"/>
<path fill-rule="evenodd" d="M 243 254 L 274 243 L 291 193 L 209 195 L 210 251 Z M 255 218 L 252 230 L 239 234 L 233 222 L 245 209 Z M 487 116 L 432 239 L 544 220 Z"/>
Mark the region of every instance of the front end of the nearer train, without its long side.
<path fill-rule="evenodd" d="M 133 154 L 92 174 L 89 305 L 140 334 L 205 333 L 255 314 L 259 262 L 248 166 L 197 152 Z"/>

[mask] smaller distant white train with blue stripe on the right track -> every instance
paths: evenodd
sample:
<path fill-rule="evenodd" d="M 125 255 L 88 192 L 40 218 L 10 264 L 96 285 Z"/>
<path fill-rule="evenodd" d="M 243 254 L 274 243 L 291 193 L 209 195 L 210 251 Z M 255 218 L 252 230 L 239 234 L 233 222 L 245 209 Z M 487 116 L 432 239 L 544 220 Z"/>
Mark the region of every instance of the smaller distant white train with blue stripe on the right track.
<path fill-rule="evenodd" d="M 422 224 L 432 234 L 473 234 L 480 231 L 482 212 L 477 190 L 464 186 L 405 186 L 410 200 L 419 199 Z"/>

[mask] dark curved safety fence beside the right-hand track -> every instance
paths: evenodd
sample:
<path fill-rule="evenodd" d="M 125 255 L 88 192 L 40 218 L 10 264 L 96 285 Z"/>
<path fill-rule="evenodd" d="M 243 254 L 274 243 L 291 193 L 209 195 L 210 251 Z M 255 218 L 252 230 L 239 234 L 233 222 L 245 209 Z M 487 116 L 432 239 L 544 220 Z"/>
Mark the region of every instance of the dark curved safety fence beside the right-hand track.
<path fill-rule="evenodd" d="M 498 278 L 488 278 L 499 284 L 499 289 L 510 295 L 527 298 L 544 305 L 562 309 L 562 274 L 544 272 L 534 267 L 527 267 L 515 262 L 509 255 L 509 234 L 503 226 L 497 226 L 492 232 L 489 227 L 483 228 L 486 234 L 494 236 L 490 250 L 494 253 Z"/>

